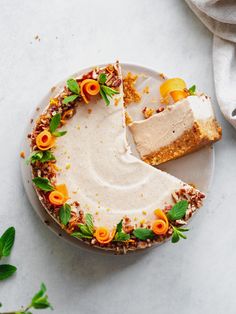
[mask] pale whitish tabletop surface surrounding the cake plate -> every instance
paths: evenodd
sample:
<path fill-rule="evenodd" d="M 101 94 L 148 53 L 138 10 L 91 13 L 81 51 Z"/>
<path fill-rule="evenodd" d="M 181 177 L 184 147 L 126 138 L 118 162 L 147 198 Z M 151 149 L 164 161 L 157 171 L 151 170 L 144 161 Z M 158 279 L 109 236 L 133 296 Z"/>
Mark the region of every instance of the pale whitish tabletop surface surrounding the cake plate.
<path fill-rule="evenodd" d="M 27 304 L 44 281 L 58 314 L 235 313 L 236 133 L 217 105 L 224 136 L 211 193 L 188 240 L 177 245 L 118 257 L 74 248 L 40 222 L 19 170 L 30 112 L 79 68 L 119 58 L 181 75 L 215 101 L 211 34 L 181 0 L 0 3 L 0 231 L 16 227 L 9 262 L 18 267 L 0 283 L 3 310 Z"/>

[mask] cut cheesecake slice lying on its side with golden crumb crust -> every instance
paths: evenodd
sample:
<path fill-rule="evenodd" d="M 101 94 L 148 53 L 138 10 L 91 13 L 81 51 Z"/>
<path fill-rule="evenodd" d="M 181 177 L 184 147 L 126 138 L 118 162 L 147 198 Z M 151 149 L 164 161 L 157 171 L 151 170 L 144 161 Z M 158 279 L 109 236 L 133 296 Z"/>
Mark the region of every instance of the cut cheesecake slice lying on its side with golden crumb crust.
<path fill-rule="evenodd" d="M 185 89 L 170 93 L 175 103 L 146 120 L 129 124 L 142 160 L 151 165 L 182 157 L 218 141 L 222 135 L 208 96 L 190 95 Z"/>

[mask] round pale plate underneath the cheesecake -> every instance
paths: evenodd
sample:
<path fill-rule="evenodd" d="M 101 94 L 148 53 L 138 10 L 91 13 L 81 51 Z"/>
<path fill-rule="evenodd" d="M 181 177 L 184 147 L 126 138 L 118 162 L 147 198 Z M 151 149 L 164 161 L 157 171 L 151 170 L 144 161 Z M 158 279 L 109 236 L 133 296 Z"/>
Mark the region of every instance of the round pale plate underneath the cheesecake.
<path fill-rule="evenodd" d="M 140 67 L 137 65 L 122 64 L 121 66 L 124 74 L 126 74 L 128 71 L 132 72 L 133 74 L 139 74 L 136 87 L 142 94 L 142 102 L 140 104 L 129 105 L 127 110 L 129 114 L 136 120 L 142 119 L 143 107 L 145 106 L 156 107 L 157 103 L 160 100 L 159 86 L 163 82 L 162 75 L 160 75 L 160 73 L 154 70 L 147 69 L 145 67 Z M 86 73 L 89 70 L 90 68 L 81 70 L 73 74 L 72 76 Z M 31 129 L 32 126 L 34 125 L 35 119 L 37 119 L 40 112 L 46 107 L 46 105 L 49 102 L 49 99 L 56 96 L 58 92 L 61 90 L 61 88 L 65 85 L 65 83 L 66 80 L 57 84 L 56 89 L 54 89 L 53 92 L 50 90 L 47 93 L 47 95 L 42 99 L 42 101 L 39 102 L 39 105 L 37 106 L 38 109 L 35 109 L 34 113 L 32 114 L 33 124 L 30 122 L 28 123 L 23 140 L 23 150 L 25 151 L 26 156 L 29 155 L 29 142 L 27 140 L 27 135 L 28 133 L 31 133 Z M 149 93 L 143 93 L 143 90 L 145 89 L 146 86 L 148 86 L 149 88 Z M 132 136 L 129 134 L 129 132 L 127 134 L 127 137 L 128 141 L 130 142 L 133 154 L 138 156 L 132 140 Z M 214 172 L 214 149 L 213 147 L 206 147 L 198 152 L 192 153 L 178 160 L 167 162 L 161 165 L 159 168 L 172 175 L 175 175 L 176 177 L 182 179 L 187 183 L 195 184 L 199 190 L 207 194 L 211 185 L 211 180 Z M 27 196 L 32 207 L 38 213 L 41 220 L 44 221 L 45 224 L 60 237 L 65 238 L 66 240 L 68 240 L 71 243 L 74 243 L 77 246 L 89 248 L 89 246 L 84 244 L 82 241 L 78 241 L 77 239 L 67 235 L 66 232 L 64 232 L 60 228 L 60 226 L 48 215 L 48 213 L 41 205 L 35 193 L 35 190 L 32 186 L 31 168 L 30 166 L 27 166 L 23 160 L 21 162 L 21 170 L 23 184 Z"/>

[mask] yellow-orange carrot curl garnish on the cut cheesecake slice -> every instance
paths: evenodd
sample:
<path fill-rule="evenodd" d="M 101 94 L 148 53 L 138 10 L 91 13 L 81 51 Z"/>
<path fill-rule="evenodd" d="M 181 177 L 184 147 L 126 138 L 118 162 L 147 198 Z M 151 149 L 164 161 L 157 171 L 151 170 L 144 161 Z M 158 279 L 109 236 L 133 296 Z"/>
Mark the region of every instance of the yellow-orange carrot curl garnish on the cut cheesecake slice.
<path fill-rule="evenodd" d="M 174 102 L 188 96 L 187 86 L 184 80 L 181 78 L 173 78 L 166 80 L 160 86 L 160 94 L 163 99 L 167 99 L 170 95 Z"/>

